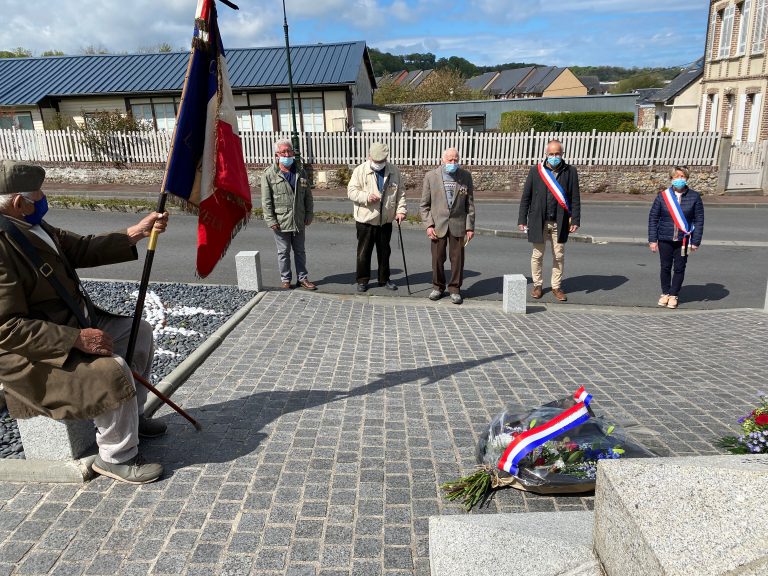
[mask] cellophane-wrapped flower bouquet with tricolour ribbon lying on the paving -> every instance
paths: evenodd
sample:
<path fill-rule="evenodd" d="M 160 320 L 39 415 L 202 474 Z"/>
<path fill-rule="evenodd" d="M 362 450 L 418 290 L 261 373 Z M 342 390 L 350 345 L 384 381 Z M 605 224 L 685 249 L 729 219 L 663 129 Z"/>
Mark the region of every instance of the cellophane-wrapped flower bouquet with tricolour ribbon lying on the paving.
<path fill-rule="evenodd" d="M 504 486 L 538 494 L 590 492 L 598 461 L 653 456 L 619 426 L 595 416 L 591 399 L 582 387 L 572 398 L 499 414 L 479 439 L 478 470 L 443 484 L 445 497 L 471 510 Z"/>

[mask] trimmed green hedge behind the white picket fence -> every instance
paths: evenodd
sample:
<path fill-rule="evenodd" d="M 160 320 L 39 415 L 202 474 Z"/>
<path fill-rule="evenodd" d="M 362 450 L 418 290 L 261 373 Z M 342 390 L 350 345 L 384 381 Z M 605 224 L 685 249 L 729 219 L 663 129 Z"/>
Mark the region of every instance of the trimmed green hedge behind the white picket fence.
<path fill-rule="evenodd" d="M 632 112 L 558 112 L 547 114 L 530 110 L 502 112 L 501 132 L 617 132 L 622 124 L 634 123 Z M 626 126 L 624 127 L 626 130 Z"/>

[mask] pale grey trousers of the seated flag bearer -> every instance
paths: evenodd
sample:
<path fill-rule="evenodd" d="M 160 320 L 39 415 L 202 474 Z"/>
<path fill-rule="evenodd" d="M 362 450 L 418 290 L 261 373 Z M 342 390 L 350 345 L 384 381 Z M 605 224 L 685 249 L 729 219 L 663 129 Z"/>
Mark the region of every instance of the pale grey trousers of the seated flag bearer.
<path fill-rule="evenodd" d="M 147 389 L 136 385 L 131 371 L 141 374 L 149 380 L 154 359 L 154 338 L 152 327 L 142 321 L 136 348 L 133 352 L 131 367 L 124 356 L 128 351 L 128 339 L 131 334 L 132 318 L 99 315 L 96 328 L 107 332 L 113 339 L 112 358 L 120 365 L 126 377 L 136 386 L 136 396 L 114 410 L 100 414 L 93 419 L 96 426 L 96 444 L 99 456 L 104 462 L 119 464 L 130 460 L 139 453 L 139 414 L 144 413 Z"/>

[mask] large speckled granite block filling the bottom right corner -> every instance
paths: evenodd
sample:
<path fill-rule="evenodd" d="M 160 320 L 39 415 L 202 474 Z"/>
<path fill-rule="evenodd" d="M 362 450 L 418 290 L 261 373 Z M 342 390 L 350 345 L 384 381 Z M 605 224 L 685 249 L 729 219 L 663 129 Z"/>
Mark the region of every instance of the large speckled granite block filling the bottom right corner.
<path fill-rule="evenodd" d="M 594 548 L 608 576 L 768 572 L 768 455 L 603 460 Z"/>

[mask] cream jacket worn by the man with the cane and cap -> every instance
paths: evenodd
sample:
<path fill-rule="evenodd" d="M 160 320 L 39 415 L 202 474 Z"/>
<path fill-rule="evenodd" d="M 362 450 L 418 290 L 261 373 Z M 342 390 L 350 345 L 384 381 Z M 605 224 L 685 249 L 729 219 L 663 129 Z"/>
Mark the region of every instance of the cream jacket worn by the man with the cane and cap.
<path fill-rule="evenodd" d="M 355 221 L 381 226 L 389 224 L 396 214 L 407 214 L 405 186 L 400 181 L 400 170 L 387 162 L 384 168 L 384 193 L 380 202 L 368 202 L 371 192 L 379 192 L 376 173 L 368 161 L 354 169 L 347 185 L 347 196 L 355 204 Z"/>

